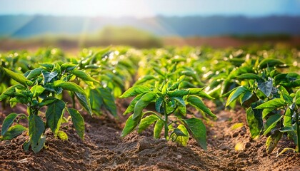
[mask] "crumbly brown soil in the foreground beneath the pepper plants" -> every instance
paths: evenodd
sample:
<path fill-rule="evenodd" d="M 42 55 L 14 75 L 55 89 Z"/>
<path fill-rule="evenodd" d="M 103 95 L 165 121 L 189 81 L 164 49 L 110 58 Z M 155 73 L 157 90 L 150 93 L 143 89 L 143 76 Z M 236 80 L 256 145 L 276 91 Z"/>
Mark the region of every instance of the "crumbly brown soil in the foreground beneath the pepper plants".
<path fill-rule="evenodd" d="M 120 138 L 126 118 L 121 116 L 126 100 L 117 100 L 119 120 L 84 114 L 86 132 L 82 141 L 71 123 L 62 130 L 69 140 L 54 139 L 46 134 L 46 149 L 34 154 L 24 152 L 22 143 L 27 135 L 0 142 L 0 170 L 300 170 L 300 155 L 276 154 L 294 144 L 283 138 L 271 154 L 266 153 L 266 138 L 252 140 L 246 126 L 245 111 L 217 110 L 206 102 L 218 119 L 206 121 L 208 150 L 204 151 L 191 138 L 186 147 L 174 142 L 154 140 L 151 129 Z M 26 111 L 24 107 L 12 111 Z M 0 123 L 11 109 L 0 108 Z M 233 125 L 242 123 L 239 128 Z M 239 150 L 235 149 L 236 144 Z"/>

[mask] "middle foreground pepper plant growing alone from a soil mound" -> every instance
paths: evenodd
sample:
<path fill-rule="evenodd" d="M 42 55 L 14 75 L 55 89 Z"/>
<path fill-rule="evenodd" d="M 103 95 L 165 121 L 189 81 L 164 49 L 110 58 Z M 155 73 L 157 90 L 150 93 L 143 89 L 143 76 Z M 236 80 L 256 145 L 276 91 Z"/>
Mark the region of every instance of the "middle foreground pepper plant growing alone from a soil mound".
<path fill-rule="evenodd" d="M 206 128 L 204 123 L 196 117 L 188 118 L 186 105 L 201 110 L 211 118 L 216 115 L 204 105 L 201 98 L 211 98 L 204 93 L 204 88 L 179 89 L 180 80 L 175 83 L 165 83 L 159 86 L 156 83 L 154 88 L 147 86 L 134 86 L 126 90 L 120 98 L 136 96 L 124 115 L 132 113 L 126 120 L 126 125 L 121 133 L 124 137 L 138 128 L 138 133 L 154 124 L 154 138 L 160 138 L 164 128 L 164 138 L 178 142 L 180 145 L 187 145 L 189 133 L 196 139 L 198 144 L 204 149 L 206 145 Z M 155 103 L 155 110 L 144 109 Z"/>

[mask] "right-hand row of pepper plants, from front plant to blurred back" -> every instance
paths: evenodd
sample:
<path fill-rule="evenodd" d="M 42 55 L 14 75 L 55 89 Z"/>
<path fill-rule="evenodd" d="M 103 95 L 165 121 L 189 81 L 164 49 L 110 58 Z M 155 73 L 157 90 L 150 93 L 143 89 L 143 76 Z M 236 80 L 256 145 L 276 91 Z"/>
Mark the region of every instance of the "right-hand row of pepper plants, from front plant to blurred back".
<path fill-rule="evenodd" d="M 293 140 L 296 148 L 284 148 L 279 155 L 299 152 L 299 52 L 239 50 L 220 58 L 223 61 L 215 61 L 204 76 L 209 79 L 209 94 L 226 108 L 234 109 L 236 103 L 244 107 L 251 138 L 267 136 L 267 152 L 283 137 Z"/>

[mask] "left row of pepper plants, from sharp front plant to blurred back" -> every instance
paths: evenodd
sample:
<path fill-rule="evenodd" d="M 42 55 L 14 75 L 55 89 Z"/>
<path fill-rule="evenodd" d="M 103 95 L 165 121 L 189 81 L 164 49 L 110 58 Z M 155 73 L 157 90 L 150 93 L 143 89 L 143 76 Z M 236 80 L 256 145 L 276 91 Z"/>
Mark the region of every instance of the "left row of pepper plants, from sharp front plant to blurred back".
<path fill-rule="evenodd" d="M 26 132 L 29 138 L 23 144 L 24 150 L 39 152 L 48 132 L 67 140 L 60 128 L 70 121 L 84 139 L 84 119 L 76 103 L 89 115 L 101 115 L 101 108 L 106 108 L 117 117 L 115 97 L 124 92 L 136 71 L 136 56 L 134 51 L 131 53 L 129 56 L 127 48 L 84 49 L 80 58 L 66 58 L 59 49 L 46 48 L 34 56 L 26 51 L 1 54 L 2 107 L 9 103 L 11 108 L 17 104 L 27 108 L 26 113 L 6 116 L 1 140 L 11 140 Z M 71 100 L 67 100 L 68 96 Z M 28 128 L 19 124 L 20 120 L 27 120 Z"/>

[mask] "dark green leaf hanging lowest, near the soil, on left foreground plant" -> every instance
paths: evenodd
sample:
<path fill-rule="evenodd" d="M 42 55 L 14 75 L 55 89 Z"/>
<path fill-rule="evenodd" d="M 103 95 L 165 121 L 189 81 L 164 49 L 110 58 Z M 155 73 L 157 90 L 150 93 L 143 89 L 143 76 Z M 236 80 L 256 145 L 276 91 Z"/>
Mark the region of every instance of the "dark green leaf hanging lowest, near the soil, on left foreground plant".
<path fill-rule="evenodd" d="M 36 146 L 39 143 L 41 135 L 44 133 L 45 125 L 43 120 L 38 115 L 29 116 L 29 137 L 31 141 L 31 147 Z"/>

